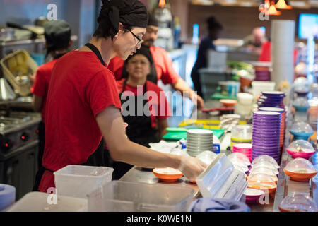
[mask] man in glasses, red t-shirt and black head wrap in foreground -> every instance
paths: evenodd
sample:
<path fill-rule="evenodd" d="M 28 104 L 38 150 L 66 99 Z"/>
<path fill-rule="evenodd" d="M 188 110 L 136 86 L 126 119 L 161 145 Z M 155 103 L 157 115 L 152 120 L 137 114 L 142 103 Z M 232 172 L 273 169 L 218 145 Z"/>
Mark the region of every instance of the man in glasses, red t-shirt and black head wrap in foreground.
<path fill-rule="evenodd" d="M 53 172 L 66 165 L 85 164 L 102 137 L 115 161 L 149 168 L 173 167 L 188 179 L 195 179 L 206 167 L 194 157 L 159 153 L 126 138 L 117 84 L 107 64 L 116 55 L 126 60 L 141 47 L 147 9 L 138 0 L 102 3 L 92 40 L 61 57 L 52 71 L 45 153 L 35 191 L 54 188 Z"/>

